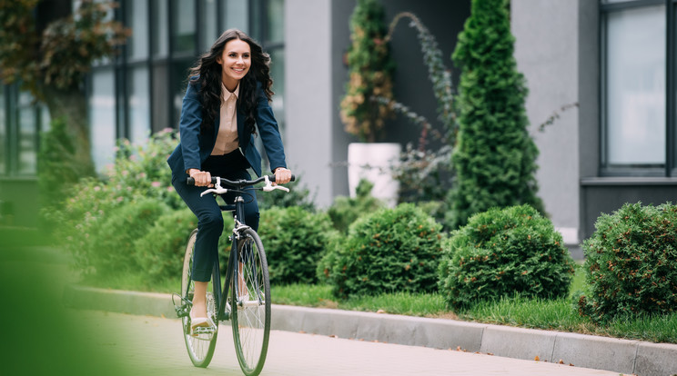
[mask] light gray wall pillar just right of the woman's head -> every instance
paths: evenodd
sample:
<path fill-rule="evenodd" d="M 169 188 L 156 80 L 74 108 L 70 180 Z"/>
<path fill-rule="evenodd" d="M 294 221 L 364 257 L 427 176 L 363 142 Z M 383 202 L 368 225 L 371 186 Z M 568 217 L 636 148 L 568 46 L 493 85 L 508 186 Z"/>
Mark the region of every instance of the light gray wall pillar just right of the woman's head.
<path fill-rule="evenodd" d="M 289 168 L 320 204 L 333 193 L 331 3 L 285 1 L 285 151 Z"/>

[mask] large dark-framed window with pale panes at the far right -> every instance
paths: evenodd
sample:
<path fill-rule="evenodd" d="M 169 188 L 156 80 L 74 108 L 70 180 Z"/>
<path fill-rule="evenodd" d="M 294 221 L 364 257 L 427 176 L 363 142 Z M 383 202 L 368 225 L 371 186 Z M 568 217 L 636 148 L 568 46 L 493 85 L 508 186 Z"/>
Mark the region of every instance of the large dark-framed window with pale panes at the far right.
<path fill-rule="evenodd" d="M 674 0 L 602 0 L 601 15 L 601 173 L 677 175 Z"/>

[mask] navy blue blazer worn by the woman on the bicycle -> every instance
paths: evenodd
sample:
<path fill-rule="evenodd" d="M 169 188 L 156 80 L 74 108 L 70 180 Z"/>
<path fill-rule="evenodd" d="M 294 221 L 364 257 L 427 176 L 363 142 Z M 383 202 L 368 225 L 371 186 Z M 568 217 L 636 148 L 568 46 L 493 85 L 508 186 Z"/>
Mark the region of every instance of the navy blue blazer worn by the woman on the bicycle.
<path fill-rule="evenodd" d="M 185 181 L 186 171 L 191 168 L 202 170 L 202 163 L 207 160 L 209 154 L 217 143 L 219 116 L 214 123 L 214 132 L 200 134 L 200 124 L 202 124 L 202 104 L 200 103 L 198 92 L 199 84 L 191 77 L 188 83 L 186 95 L 183 98 L 181 107 L 181 121 L 178 129 L 181 141 L 174 152 L 167 159 L 172 174 Z M 282 138 L 279 135 L 278 122 L 275 120 L 273 110 L 268 104 L 268 98 L 263 92 L 261 84 L 257 84 L 258 103 L 256 111 L 256 120 L 258 135 L 261 137 L 263 145 L 268 154 L 270 169 L 275 171 L 278 167 L 287 168 L 285 162 L 285 151 L 282 146 Z M 261 154 L 254 146 L 254 134 L 245 133 L 245 114 L 242 113 L 240 106 L 237 106 L 237 137 L 239 138 L 239 150 L 245 155 L 249 165 L 258 176 L 261 176 Z"/>

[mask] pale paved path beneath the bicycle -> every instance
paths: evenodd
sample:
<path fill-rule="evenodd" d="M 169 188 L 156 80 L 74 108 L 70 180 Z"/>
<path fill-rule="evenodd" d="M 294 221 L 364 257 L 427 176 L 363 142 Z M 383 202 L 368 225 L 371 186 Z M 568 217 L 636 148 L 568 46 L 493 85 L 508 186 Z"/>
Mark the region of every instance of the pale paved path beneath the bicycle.
<path fill-rule="evenodd" d="M 207 369 L 190 363 L 180 322 L 153 316 L 72 311 L 86 341 L 101 355 L 116 359 L 129 375 L 241 375 L 230 327 L 221 325 L 217 352 Z M 520 361 L 486 354 L 355 341 L 272 331 L 262 375 L 618 375 L 542 361 Z"/>

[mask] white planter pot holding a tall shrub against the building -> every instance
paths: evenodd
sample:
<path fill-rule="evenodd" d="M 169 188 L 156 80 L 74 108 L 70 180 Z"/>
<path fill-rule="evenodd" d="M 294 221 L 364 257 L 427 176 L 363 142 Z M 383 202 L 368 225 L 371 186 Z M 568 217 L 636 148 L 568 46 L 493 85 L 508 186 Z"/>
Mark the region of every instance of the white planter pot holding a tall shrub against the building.
<path fill-rule="evenodd" d="M 371 195 L 383 200 L 389 207 L 398 203 L 399 182 L 392 176 L 393 166 L 399 164 L 399 143 L 350 143 L 348 145 L 348 186 L 350 197 L 361 179 L 374 183 Z"/>

